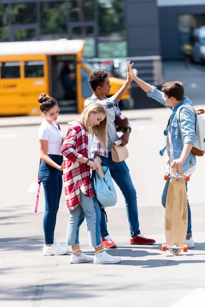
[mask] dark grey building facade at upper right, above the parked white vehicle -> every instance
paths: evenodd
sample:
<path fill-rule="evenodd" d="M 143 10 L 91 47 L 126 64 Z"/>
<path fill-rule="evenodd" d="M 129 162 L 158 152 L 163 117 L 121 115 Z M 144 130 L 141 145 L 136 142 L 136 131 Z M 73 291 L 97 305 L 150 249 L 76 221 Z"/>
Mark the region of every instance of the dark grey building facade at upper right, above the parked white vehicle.
<path fill-rule="evenodd" d="M 205 0 L 157 0 L 163 59 L 183 57 L 195 28 L 205 26 Z"/>

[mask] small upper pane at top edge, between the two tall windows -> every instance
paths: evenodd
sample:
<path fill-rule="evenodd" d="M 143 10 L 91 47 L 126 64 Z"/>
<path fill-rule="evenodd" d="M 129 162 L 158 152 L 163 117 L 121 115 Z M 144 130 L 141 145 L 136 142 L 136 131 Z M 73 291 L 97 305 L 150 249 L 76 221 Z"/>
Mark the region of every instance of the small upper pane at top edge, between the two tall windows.
<path fill-rule="evenodd" d="M 70 0 L 70 21 L 93 21 L 95 0 Z"/>

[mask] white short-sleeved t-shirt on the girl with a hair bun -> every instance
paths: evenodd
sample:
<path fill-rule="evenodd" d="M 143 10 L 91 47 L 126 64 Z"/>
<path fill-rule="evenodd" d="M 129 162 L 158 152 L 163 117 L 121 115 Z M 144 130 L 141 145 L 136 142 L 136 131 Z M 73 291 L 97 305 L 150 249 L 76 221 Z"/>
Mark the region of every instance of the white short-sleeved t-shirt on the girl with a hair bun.
<path fill-rule="evenodd" d="M 58 126 L 49 124 L 45 119 L 38 130 L 38 140 L 48 141 L 48 154 L 62 156 L 60 149 L 63 138 L 63 133 L 58 129 Z"/>

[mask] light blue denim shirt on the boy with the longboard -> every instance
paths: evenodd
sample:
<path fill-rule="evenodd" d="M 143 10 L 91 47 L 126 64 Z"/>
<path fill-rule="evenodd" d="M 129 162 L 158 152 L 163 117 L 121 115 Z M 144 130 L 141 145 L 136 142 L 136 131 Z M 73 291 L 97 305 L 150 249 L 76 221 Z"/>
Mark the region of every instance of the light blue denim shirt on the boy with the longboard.
<path fill-rule="evenodd" d="M 156 87 L 153 87 L 153 89 L 147 93 L 148 97 L 151 97 L 161 104 L 166 105 L 165 100 L 162 98 L 162 92 L 157 90 Z M 172 107 L 168 106 L 171 110 L 171 116 L 169 118 L 167 127 L 165 131 L 163 132 L 165 136 L 165 140 L 162 144 L 162 147 L 159 151 L 160 156 L 163 156 L 165 153 L 165 150 L 167 148 L 167 137 L 168 137 L 168 129 L 170 126 L 170 163 L 175 160 L 179 159 L 181 156 L 181 152 L 183 150 L 183 141 L 181 138 L 181 131 L 179 127 L 179 122 L 177 120 L 177 109 L 179 106 L 184 105 L 185 107 L 180 109 L 179 112 L 179 120 L 181 124 L 181 131 L 184 136 L 184 142 L 188 144 L 194 145 L 196 142 L 196 133 L 195 133 L 195 126 L 196 126 L 196 116 L 194 112 L 192 112 L 190 109 L 186 108 L 186 105 L 193 106 L 191 100 L 189 100 L 188 97 L 185 97 L 177 106 Z M 195 165 L 196 164 L 196 157 L 190 152 L 189 156 L 185 160 L 185 162 L 182 164 L 182 170 L 185 172 L 188 170 L 190 164 Z"/>

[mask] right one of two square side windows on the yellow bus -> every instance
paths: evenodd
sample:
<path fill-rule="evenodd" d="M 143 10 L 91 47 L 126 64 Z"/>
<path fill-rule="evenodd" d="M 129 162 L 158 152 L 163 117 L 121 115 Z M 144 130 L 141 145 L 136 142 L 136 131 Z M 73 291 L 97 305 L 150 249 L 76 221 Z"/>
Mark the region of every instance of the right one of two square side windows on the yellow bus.
<path fill-rule="evenodd" d="M 44 61 L 24 62 L 25 78 L 44 77 Z"/>

